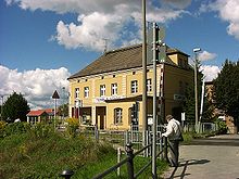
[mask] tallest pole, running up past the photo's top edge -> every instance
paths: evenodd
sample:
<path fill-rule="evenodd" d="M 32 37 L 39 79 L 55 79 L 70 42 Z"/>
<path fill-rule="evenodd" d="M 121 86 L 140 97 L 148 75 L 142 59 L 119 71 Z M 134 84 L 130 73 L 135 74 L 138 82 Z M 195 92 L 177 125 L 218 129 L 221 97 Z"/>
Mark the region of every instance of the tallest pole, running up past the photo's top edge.
<path fill-rule="evenodd" d="M 147 44 L 146 44 L 146 0 L 142 0 L 142 145 L 146 146 L 148 130 L 147 112 Z"/>

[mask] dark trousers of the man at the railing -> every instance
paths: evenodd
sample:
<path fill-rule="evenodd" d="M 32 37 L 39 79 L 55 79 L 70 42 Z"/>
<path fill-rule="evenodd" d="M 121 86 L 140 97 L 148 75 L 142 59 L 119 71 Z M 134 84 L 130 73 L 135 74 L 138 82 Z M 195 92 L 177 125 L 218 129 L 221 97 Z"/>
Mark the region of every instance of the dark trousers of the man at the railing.
<path fill-rule="evenodd" d="M 169 163 L 172 166 L 178 166 L 179 141 L 168 141 L 169 144 Z"/>

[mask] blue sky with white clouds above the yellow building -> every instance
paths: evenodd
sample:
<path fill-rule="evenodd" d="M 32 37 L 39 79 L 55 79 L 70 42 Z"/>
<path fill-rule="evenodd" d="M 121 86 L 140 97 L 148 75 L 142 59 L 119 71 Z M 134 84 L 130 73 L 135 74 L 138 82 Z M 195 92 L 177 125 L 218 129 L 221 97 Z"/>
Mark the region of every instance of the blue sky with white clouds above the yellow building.
<path fill-rule="evenodd" d="M 141 42 L 140 13 L 139 0 L 0 1 L 0 94 L 18 91 L 32 107 L 46 106 L 71 74 L 102 54 L 104 39 L 108 49 Z M 226 59 L 239 57 L 238 0 L 147 0 L 147 21 L 165 27 L 169 47 L 192 57 L 200 47 L 209 80 Z"/>

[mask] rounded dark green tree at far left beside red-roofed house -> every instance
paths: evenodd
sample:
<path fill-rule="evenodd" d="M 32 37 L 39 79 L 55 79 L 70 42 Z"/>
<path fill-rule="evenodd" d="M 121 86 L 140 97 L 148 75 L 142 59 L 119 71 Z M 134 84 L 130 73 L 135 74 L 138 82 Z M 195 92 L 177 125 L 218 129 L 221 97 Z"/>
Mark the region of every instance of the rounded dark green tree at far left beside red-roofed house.
<path fill-rule="evenodd" d="M 26 114 L 29 112 L 27 101 L 23 95 L 13 92 L 3 104 L 2 117 L 8 123 L 20 118 L 22 122 L 26 120 Z"/>

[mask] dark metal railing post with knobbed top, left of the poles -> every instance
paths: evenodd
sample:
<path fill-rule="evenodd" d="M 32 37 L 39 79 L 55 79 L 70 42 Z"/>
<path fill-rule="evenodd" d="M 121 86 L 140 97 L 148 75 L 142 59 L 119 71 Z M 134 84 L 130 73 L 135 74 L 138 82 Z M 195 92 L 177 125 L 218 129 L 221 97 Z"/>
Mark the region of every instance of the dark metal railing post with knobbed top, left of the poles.
<path fill-rule="evenodd" d="M 134 179 L 134 150 L 131 149 L 131 143 L 127 143 L 125 148 L 125 152 L 128 156 L 127 169 L 128 169 L 128 178 Z"/>

